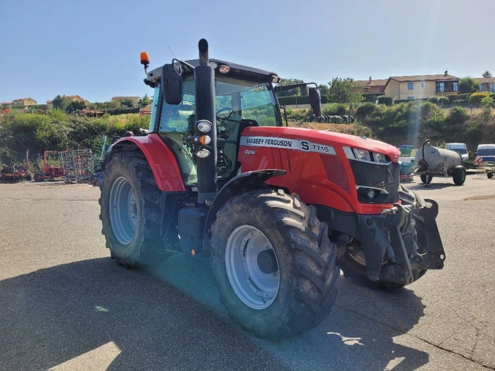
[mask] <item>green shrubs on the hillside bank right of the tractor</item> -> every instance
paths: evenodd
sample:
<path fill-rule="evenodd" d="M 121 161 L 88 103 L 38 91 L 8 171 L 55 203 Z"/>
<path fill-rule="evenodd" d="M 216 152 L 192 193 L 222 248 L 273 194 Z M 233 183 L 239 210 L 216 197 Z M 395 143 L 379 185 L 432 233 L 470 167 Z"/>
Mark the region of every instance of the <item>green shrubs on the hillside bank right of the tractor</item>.
<path fill-rule="evenodd" d="M 425 139 L 437 145 L 446 142 L 464 142 L 475 150 L 480 143 L 495 142 L 495 118 L 493 109 L 487 105 L 475 114 L 463 107 L 443 110 L 429 101 L 413 101 L 392 106 L 375 103 L 325 104 L 324 115 L 351 114 L 354 125 L 303 123 L 311 109 L 288 109 L 287 117 L 291 126 L 314 129 L 331 129 L 369 136 L 394 144 L 418 146 Z M 342 129 L 341 129 L 342 128 Z"/>

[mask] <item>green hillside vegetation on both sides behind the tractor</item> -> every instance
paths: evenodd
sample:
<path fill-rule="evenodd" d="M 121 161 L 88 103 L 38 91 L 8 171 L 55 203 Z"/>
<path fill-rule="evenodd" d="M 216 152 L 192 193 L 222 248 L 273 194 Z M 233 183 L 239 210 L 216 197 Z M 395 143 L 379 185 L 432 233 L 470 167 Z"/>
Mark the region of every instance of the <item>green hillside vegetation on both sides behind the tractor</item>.
<path fill-rule="evenodd" d="M 353 124 L 304 122 L 310 109 L 288 109 L 290 126 L 332 130 L 335 132 L 376 138 L 385 142 L 418 146 L 425 139 L 437 145 L 465 142 L 472 151 L 480 143 L 495 142 L 495 119 L 490 106 L 475 114 L 462 107 L 441 109 L 428 101 L 399 103 L 392 106 L 375 103 L 324 104 L 324 115 L 351 114 Z M 148 128 L 149 116 L 124 114 L 100 118 L 69 115 L 52 110 L 48 115 L 37 113 L 0 114 L 0 161 L 15 163 L 44 150 L 91 148 L 101 150 L 103 136 L 122 137 L 126 131 Z"/>

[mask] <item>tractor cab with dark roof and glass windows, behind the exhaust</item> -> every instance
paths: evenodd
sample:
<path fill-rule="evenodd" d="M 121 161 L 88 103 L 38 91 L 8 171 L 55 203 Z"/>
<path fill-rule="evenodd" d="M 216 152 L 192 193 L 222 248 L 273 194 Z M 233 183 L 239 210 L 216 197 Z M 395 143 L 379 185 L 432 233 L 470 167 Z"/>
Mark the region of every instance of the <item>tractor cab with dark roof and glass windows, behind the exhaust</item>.
<path fill-rule="evenodd" d="M 198 120 L 194 70 L 188 66 L 196 68 L 199 65 L 199 59 L 176 61 L 152 70 L 145 79 L 145 83 L 154 88 L 149 132 L 159 134 L 173 149 L 184 182 L 190 186 L 198 184 L 198 143 L 190 139 L 195 136 Z M 281 79 L 275 73 L 262 69 L 217 59 L 209 59 L 208 65 L 214 71 L 217 182 L 224 184 L 240 172 L 239 145 L 241 133 L 246 127 L 287 126 L 287 118 L 281 114 L 276 91 L 294 87 L 275 87 L 274 84 L 280 83 Z M 172 68 L 174 77 L 180 80 L 181 85 L 181 89 L 175 87 L 176 91 L 181 90 L 175 102 L 164 99 L 166 93 L 162 88 L 170 83 L 167 78 Z M 298 84 L 297 87 L 306 85 Z M 211 138 L 209 140 L 204 146 L 209 147 L 206 149 L 211 152 L 213 143 Z"/>

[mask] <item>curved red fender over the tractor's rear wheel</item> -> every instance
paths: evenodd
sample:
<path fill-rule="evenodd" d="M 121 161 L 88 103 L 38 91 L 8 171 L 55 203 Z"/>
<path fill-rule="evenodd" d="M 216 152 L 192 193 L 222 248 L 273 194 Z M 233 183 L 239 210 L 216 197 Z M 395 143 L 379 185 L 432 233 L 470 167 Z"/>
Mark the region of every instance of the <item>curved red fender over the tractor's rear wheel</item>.
<path fill-rule="evenodd" d="M 165 192 L 186 190 L 174 154 L 157 134 L 149 134 L 146 137 L 126 137 L 117 140 L 112 145 L 112 150 L 106 162 L 116 152 L 136 150 L 140 150 L 145 155 L 153 172 L 156 185 L 160 190 Z"/>

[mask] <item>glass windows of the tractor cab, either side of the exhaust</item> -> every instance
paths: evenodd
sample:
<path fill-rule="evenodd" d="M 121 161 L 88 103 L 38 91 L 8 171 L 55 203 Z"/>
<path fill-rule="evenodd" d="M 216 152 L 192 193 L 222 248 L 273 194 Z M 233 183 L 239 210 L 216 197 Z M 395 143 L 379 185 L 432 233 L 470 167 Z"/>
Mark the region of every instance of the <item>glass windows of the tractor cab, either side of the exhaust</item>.
<path fill-rule="evenodd" d="M 159 86 L 155 88 L 154 102 L 158 102 Z M 237 153 L 240 121 L 254 120 L 258 126 L 280 126 L 280 116 L 273 90 L 268 83 L 252 82 L 224 76 L 215 78 L 215 110 L 217 119 L 217 171 L 222 183 L 238 171 Z M 163 102 L 158 133 L 174 150 L 187 185 L 196 185 L 198 176 L 194 147 L 188 136 L 194 135 L 195 120 L 194 78 L 183 83 L 182 102 L 170 105 Z M 150 120 L 154 131 L 156 105 Z"/>

